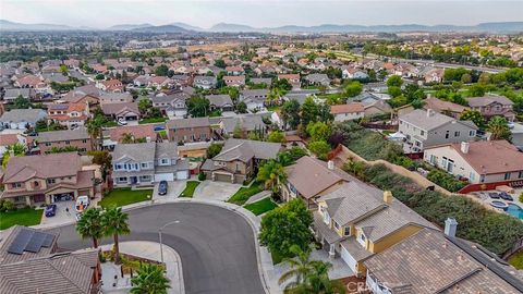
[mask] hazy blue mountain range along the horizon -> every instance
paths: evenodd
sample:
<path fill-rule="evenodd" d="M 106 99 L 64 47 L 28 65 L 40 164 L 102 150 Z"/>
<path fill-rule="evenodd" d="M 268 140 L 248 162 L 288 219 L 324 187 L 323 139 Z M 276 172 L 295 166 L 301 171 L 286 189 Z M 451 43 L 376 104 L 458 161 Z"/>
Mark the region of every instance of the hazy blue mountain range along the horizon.
<path fill-rule="evenodd" d="M 209 28 L 202 28 L 185 23 L 170 23 L 166 25 L 120 24 L 105 29 L 89 27 L 73 27 L 60 24 L 22 24 L 0 20 L 0 30 L 133 30 L 150 33 L 192 33 L 192 32 L 222 32 L 222 33 L 358 33 L 358 32 L 490 32 L 515 33 L 523 32 L 523 22 L 482 23 L 472 26 L 458 25 L 338 25 L 321 24 L 316 26 L 287 25 L 278 27 L 252 27 L 243 24 L 219 23 Z"/>

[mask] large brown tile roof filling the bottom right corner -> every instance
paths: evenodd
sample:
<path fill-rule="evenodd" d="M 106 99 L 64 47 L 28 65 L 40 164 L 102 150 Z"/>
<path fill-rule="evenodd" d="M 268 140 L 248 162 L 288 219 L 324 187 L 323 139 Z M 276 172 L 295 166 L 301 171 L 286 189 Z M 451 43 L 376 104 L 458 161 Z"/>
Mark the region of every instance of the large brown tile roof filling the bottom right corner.
<path fill-rule="evenodd" d="M 364 265 L 394 293 L 520 293 L 491 270 L 490 262 L 479 262 L 430 229 L 421 230 Z"/>

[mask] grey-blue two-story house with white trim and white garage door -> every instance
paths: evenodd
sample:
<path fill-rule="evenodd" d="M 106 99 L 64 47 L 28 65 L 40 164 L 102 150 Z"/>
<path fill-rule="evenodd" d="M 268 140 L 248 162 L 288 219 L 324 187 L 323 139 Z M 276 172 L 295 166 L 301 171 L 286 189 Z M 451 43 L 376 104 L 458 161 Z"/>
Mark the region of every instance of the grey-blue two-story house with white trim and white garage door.
<path fill-rule="evenodd" d="M 112 171 L 114 186 L 153 185 L 188 179 L 188 161 L 179 158 L 175 142 L 118 144 Z"/>

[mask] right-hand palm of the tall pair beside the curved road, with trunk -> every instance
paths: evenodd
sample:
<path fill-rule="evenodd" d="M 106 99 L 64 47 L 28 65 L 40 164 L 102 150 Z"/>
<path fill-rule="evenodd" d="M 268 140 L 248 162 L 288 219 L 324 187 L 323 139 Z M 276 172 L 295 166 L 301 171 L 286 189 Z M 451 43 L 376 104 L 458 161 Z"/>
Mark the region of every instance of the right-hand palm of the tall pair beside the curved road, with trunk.
<path fill-rule="evenodd" d="M 120 264 L 120 245 L 118 241 L 119 235 L 129 234 L 129 216 L 122 212 L 122 208 L 112 207 L 105 211 L 102 215 L 104 233 L 106 236 L 114 238 L 114 262 Z"/>

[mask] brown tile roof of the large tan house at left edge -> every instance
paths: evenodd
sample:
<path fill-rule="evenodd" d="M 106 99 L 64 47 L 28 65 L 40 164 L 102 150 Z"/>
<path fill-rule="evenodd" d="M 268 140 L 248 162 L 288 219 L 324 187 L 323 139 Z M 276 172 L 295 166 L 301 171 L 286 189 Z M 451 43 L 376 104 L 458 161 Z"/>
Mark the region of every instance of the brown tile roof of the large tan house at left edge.
<path fill-rule="evenodd" d="M 13 157 L 5 168 L 3 182 L 16 183 L 32 177 L 76 175 L 81 167 L 80 156 L 75 152 Z"/>

